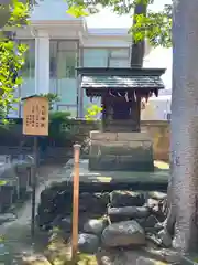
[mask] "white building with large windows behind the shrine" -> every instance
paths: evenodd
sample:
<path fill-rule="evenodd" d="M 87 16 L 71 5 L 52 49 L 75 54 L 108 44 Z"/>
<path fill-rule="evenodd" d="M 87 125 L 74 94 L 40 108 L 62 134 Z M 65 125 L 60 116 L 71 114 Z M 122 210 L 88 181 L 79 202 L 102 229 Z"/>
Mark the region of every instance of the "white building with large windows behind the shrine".
<path fill-rule="evenodd" d="M 74 18 L 66 10 L 63 0 L 41 1 L 32 12 L 31 25 L 18 30 L 18 40 L 28 43 L 30 49 L 22 71 L 24 83 L 15 96 L 56 93 L 61 102 L 55 109 L 69 110 L 73 116 L 81 117 L 90 102 L 78 85 L 76 67 L 130 66 L 131 36 L 128 30 L 131 18 L 119 18 L 117 26 L 113 24 L 116 14 L 106 11 L 105 15 L 84 19 Z M 92 28 L 96 20 L 101 28 Z M 129 26 L 122 26 L 124 20 Z M 150 52 L 147 46 L 145 56 Z M 158 67 L 157 64 L 154 67 Z M 16 108 L 19 110 L 10 116 L 22 115 L 22 108 Z"/>

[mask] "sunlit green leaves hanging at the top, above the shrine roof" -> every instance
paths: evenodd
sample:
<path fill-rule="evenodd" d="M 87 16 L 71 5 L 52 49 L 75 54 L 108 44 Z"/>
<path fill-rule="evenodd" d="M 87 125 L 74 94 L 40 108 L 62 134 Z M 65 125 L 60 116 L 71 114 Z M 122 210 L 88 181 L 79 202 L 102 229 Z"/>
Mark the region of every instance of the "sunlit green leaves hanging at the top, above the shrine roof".
<path fill-rule="evenodd" d="M 134 42 L 146 38 L 153 46 L 169 47 L 172 45 L 172 4 L 164 4 L 163 10 L 153 11 L 152 6 L 158 1 L 162 0 L 67 0 L 69 4 L 67 12 L 74 17 L 81 17 L 96 13 L 99 8 L 110 8 L 117 14 L 133 17 L 136 4 L 146 4 L 146 15 L 135 15 L 133 19 L 136 23 L 131 26 L 129 32 L 133 34 Z"/>

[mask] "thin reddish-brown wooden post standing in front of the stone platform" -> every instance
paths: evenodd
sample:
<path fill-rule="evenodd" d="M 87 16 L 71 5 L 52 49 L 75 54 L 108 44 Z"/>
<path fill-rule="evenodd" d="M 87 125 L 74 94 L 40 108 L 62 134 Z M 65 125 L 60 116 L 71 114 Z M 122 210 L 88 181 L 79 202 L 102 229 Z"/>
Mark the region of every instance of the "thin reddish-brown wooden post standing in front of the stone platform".
<path fill-rule="evenodd" d="M 78 252 L 78 212 L 79 212 L 79 156 L 80 145 L 74 145 L 73 178 L 73 263 L 76 264 Z"/>

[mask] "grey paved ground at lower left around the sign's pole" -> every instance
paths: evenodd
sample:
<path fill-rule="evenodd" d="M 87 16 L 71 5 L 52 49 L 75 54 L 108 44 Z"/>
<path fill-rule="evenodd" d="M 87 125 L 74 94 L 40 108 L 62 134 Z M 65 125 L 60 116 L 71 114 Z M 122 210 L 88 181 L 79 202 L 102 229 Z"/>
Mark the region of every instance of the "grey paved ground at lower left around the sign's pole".
<path fill-rule="evenodd" d="M 41 183 L 36 190 L 36 204 L 40 202 L 41 191 L 51 181 L 54 181 L 62 166 L 44 166 L 40 170 Z M 3 236 L 4 246 L 0 244 L 0 264 L 20 264 L 20 256 L 23 253 L 42 251 L 44 236 L 36 232 L 35 244 L 31 239 L 31 200 L 29 200 L 18 212 L 18 219 L 0 225 L 0 235 Z M 34 245 L 36 247 L 34 247 Z"/>

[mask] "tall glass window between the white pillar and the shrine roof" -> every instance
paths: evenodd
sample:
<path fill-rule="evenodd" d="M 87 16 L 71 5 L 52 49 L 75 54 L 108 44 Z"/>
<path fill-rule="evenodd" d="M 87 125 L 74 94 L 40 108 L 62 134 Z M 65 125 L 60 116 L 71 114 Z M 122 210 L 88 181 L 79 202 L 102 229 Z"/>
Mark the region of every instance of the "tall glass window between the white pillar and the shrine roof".
<path fill-rule="evenodd" d="M 78 65 L 78 42 L 68 40 L 50 41 L 50 91 L 61 97 L 55 108 L 68 109 L 73 116 L 77 113 L 76 67 Z"/>

